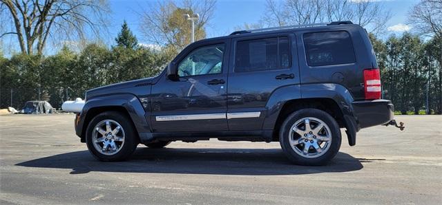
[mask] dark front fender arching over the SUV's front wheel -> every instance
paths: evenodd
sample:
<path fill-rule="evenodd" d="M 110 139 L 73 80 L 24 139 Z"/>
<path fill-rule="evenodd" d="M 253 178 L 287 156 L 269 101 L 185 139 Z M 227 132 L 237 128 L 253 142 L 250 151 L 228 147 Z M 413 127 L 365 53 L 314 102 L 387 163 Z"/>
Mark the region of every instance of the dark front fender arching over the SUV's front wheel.
<path fill-rule="evenodd" d="M 96 115 L 94 110 L 112 110 L 111 107 L 122 107 L 127 111 L 135 125 L 135 129 L 137 129 L 137 133 L 140 134 L 140 140 L 142 140 L 147 133 L 151 133 L 151 128 L 144 117 L 146 111 L 144 111 L 140 100 L 132 94 L 115 94 L 111 96 L 99 96 L 86 101 L 75 128 L 77 136 L 80 136 L 82 140 L 84 139 L 88 121 Z"/>

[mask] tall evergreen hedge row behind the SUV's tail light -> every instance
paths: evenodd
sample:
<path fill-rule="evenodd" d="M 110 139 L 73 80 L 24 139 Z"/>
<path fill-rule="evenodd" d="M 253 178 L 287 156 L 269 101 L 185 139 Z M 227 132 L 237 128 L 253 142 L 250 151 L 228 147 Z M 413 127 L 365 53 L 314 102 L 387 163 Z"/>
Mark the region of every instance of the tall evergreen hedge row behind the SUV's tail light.
<path fill-rule="evenodd" d="M 370 36 L 381 67 L 383 98 L 405 114 L 442 114 L 442 39 L 410 33 L 385 41 Z"/>

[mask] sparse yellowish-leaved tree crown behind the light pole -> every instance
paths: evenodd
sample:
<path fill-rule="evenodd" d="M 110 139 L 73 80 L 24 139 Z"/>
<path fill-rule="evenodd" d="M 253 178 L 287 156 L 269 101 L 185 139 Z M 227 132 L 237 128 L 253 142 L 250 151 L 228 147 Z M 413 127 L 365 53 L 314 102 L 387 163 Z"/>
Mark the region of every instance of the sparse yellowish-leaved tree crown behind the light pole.
<path fill-rule="evenodd" d="M 215 10 L 215 0 L 193 2 L 157 1 L 141 14 L 140 30 L 151 43 L 167 46 L 172 52 L 182 50 L 191 41 L 191 22 L 184 14 L 199 14 L 195 21 L 195 39 L 204 39 L 204 27 L 208 25 Z"/>

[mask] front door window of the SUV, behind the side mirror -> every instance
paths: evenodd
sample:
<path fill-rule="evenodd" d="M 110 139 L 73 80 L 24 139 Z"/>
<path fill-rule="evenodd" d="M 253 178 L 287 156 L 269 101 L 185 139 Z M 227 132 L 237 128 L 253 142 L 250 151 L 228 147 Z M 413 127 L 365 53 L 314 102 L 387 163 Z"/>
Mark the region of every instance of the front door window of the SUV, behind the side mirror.
<path fill-rule="evenodd" d="M 220 74 L 223 54 L 224 44 L 199 47 L 180 62 L 178 65 L 178 75 Z"/>

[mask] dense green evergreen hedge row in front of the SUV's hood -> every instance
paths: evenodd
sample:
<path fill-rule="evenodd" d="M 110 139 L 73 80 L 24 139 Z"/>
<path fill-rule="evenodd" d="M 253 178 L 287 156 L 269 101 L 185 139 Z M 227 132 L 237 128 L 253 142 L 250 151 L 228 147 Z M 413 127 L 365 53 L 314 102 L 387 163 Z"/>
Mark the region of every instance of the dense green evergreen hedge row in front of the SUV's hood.
<path fill-rule="evenodd" d="M 0 57 L 0 107 L 9 107 L 11 96 L 17 109 L 40 96 L 59 108 L 64 100 L 83 98 L 88 89 L 154 76 L 166 66 L 169 56 L 144 47 L 108 49 L 90 44 L 79 54 L 64 47 L 48 57 Z"/>

